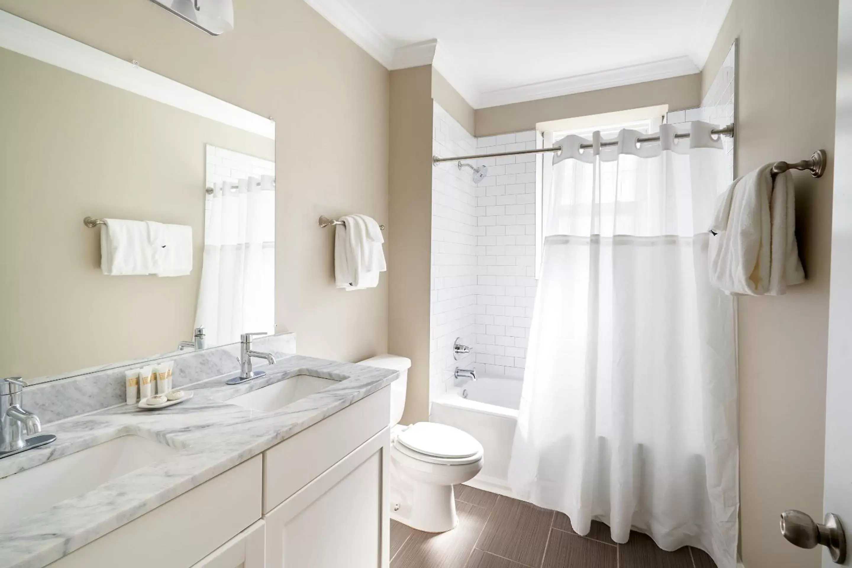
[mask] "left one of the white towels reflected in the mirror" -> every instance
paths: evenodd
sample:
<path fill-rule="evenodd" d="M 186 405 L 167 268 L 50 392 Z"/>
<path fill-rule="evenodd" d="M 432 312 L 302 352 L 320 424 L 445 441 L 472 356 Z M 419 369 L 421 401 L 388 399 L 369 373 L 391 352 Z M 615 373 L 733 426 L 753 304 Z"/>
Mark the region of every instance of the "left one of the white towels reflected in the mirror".
<path fill-rule="evenodd" d="M 154 261 L 145 221 L 105 219 L 101 227 L 101 273 L 110 276 L 150 274 Z"/>

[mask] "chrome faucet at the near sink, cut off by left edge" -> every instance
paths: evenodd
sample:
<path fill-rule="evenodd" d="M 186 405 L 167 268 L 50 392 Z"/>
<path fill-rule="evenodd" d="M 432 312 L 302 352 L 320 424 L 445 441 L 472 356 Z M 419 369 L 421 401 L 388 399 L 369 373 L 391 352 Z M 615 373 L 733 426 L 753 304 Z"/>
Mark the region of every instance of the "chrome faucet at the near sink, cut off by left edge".
<path fill-rule="evenodd" d="M 20 407 L 24 387 L 26 382 L 20 376 L 0 379 L 0 458 L 49 444 L 56 439 L 53 434 L 24 439 L 25 432 L 32 435 L 42 431 L 38 416 Z"/>

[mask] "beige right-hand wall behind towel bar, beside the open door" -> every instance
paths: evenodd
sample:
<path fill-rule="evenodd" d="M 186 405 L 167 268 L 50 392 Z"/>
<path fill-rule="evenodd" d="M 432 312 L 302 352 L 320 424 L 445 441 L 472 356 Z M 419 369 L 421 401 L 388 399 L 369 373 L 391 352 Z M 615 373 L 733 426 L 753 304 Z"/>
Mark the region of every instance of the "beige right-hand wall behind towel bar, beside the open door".
<path fill-rule="evenodd" d="M 746 568 L 820 565 L 820 550 L 787 543 L 778 515 L 822 518 L 826 336 L 838 0 L 734 0 L 705 66 L 710 86 L 740 37 L 739 174 L 774 160 L 829 165 L 797 172 L 796 232 L 808 281 L 780 297 L 740 298 L 741 549 Z"/>

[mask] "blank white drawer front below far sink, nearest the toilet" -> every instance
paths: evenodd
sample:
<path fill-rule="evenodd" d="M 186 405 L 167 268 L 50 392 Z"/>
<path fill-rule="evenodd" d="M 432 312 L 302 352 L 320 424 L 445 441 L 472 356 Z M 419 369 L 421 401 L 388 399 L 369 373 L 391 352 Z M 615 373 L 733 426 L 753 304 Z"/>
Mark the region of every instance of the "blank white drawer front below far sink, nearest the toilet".
<path fill-rule="evenodd" d="M 390 387 L 263 452 L 263 513 L 308 485 L 390 422 Z"/>

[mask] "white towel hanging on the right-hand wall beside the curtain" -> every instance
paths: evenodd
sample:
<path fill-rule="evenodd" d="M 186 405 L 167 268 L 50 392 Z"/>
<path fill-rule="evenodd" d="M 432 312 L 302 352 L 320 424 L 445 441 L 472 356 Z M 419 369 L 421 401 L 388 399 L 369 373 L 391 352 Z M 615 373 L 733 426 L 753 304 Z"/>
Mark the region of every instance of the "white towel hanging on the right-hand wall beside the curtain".
<path fill-rule="evenodd" d="M 728 187 L 710 227 L 711 284 L 734 295 L 782 295 L 804 281 L 792 174 L 766 164 Z"/>

